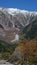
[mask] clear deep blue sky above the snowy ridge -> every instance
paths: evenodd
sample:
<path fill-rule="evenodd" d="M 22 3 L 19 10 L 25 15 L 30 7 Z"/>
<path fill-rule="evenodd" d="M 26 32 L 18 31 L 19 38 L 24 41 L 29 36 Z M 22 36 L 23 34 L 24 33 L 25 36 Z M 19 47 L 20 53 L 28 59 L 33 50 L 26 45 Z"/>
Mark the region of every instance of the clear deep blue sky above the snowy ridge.
<path fill-rule="evenodd" d="M 37 0 L 0 0 L 0 7 L 37 11 Z"/>

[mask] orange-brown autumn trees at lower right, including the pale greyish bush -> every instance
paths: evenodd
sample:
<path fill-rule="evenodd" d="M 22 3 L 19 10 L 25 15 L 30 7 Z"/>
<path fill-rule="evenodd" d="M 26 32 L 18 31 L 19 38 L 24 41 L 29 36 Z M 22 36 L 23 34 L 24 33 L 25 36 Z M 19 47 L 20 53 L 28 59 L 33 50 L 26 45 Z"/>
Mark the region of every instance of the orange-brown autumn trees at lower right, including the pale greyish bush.
<path fill-rule="evenodd" d="M 32 63 L 37 63 L 37 40 L 25 40 L 23 44 L 19 45 L 15 51 L 14 55 L 19 60 L 30 61 Z"/>

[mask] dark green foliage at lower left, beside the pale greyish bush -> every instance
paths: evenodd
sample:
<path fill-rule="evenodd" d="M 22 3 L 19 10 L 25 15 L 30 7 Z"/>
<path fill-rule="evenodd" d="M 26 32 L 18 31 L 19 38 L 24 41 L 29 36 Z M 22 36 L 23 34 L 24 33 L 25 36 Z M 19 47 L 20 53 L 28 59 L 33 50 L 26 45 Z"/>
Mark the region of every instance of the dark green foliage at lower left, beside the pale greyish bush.
<path fill-rule="evenodd" d="M 0 40 L 0 59 L 9 59 L 17 44 L 11 44 Z"/>

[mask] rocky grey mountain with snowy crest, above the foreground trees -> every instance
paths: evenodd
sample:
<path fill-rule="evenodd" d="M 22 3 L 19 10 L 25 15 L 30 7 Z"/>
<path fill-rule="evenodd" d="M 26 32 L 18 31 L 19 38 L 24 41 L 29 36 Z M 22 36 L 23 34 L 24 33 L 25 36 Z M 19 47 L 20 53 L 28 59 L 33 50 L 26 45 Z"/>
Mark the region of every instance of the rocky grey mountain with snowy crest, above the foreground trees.
<path fill-rule="evenodd" d="M 0 8 L 0 39 L 10 42 L 16 34 L 24 33 L 27 39 L 37 34 L 37 12 Z"/>

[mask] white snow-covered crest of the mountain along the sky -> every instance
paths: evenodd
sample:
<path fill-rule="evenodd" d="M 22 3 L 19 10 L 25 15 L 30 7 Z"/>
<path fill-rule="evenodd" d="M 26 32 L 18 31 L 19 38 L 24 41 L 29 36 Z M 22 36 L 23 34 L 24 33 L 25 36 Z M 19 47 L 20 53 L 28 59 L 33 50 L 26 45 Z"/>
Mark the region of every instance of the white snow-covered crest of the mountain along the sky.
<path fill-rule="evenodd" d="M 21 10 L 21 9 L 17 9 L 17 8 L 0 8 L 0 10 L 4 11 L 4 12 L 8 12 L 9 14 L 11 15 L 15 15 L 15 14 L 18 14 L 18 13 L 22 13 L 22 14 L 37 14 L 37 12 L 33 12 L 33 11 L 27 11 L 27 10 Z"/>

